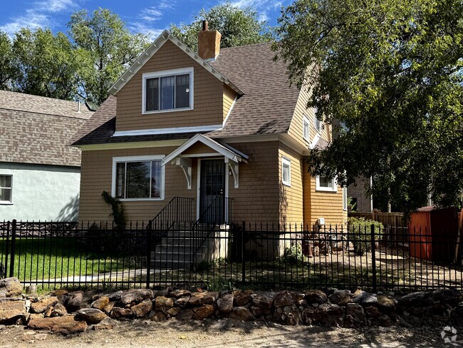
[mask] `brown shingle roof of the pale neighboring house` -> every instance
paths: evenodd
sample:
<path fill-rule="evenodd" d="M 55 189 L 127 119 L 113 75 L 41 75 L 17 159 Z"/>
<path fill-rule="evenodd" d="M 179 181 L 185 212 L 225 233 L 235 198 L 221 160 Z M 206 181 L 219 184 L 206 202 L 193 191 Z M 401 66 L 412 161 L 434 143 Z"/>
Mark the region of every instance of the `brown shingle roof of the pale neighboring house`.
<path fill-rule="evenodd" d="M 74 101 L 0 91 L 0 162 L 80 166 L 67 143 L 92 115 Z"/>

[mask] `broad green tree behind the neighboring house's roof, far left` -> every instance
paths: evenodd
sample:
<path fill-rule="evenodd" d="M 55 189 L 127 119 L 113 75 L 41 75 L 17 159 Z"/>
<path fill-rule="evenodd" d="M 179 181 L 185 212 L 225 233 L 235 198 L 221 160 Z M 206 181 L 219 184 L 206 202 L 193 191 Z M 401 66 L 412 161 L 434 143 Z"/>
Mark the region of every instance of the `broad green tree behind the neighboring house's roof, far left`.
<path fill-rule="evenodd" d="M 16 33 L 10 57 L 11 90 L 68 100 L 76 96 L 80 60 L 63 33 L 23 28 Z"/>

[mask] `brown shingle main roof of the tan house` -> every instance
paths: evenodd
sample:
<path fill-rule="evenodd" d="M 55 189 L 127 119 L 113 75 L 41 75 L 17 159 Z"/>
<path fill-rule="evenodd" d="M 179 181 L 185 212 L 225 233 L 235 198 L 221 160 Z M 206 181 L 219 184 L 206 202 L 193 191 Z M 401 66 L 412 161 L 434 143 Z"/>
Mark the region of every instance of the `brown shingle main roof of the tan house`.
<path fill-rule="evenodd" d="M 217 59 L 210 62 L 213 68 L 245 93 L 234 104 L 224 128 L 207 133 L 210 138 L 278 134 L 288 131 L 299 91 L 296 87 L 289 86 L 286 65 L 281 61 L 274 61 L 273 58 L 271 44 L 255 44 L 222 48 Z M 110 96 L 73 137 L 73 145 L 120 142 L 120 137 L 110 137 L 115 131 L 115 122 L 108 122 L 115 118 L 116 103 L 117 98 Z M 185 136 L 184 134 L 182 138 Z M 172 135 L 162 137 L 167 139 L 172 138 Z M 144 141 L 157 140 L 160 136 L 124 138 L 124 141 Z"/>

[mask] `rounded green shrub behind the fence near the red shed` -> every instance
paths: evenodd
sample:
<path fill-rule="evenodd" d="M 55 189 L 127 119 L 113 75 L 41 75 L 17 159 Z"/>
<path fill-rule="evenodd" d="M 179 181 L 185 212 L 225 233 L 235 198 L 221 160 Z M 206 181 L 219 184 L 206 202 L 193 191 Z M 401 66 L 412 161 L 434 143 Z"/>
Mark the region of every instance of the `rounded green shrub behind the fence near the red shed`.
<path fill-rule="evenodd" d="M 383 224 L 365 218 L 348 218 L 348 236 L 357 255 L 371 251 L 371 225 L 375 226 L 375 240 L 380 240 Z"/>

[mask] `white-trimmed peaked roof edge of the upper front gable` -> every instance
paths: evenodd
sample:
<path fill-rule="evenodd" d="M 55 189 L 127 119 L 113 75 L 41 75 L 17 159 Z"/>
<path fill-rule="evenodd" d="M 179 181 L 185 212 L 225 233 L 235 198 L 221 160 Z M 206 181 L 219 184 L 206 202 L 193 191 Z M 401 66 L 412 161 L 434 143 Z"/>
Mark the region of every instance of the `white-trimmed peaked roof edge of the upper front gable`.
<path fill-rule="evenodd" d="M 209 63 L 207 63 L 207 61 L 204 61 L 204 59 L 199 57 L 197 53 L 194 53 L 191 49 L 187 47 L 187 45 L 183 44 L 175 36 L 172 36 L 172 34 L 170 34 L 170 32 L 167 30 L 162 31 L 162 34 L 157 37 L 155 42 L 153 42 L 150 45 L 150 47 L 148 47 L 146 51 L 143 52 L 137 58 L 137 61 L 135 61 L 135 63 L 133 63 L 133 65 L 130 66 L 130 68 L 128 68 L 128 70 L 125 71 L 125 73 L 123 73 L 123 76 L 120 76 L 118 81 L 116 81 L 114 85 L 110 88 L 109 93 L 113 95 L 118 93 L 118 91 L 120 91 L 120 89 L 123 88 L 123 86 L 125 86 L 125 83 L 127 83 L 130 80 L 130 78 L 132 78 L 135 75 L 135 73 L 137 73 L 137 71 L 139 71 L 140 68 L 142 68 L 142 66 L 145 65 L 145 63 L 148 60 L 150 60 L 152 56 L 155 55 L 157 50 L 159 50 L 162 47 L 162 45 L 165 44 L 167 40 L 172 41 L 173 44 L 178 46 L 182 51 L 187 53 L 188 56 L 192 57 L 195 61 L 197 61 L 197 63 L 199 63 L 200 66 L 202 66 L 207 71 L 209 71 L 209 73 L 212 73 L 212 75 L 217 77 L 220 81 L 225 83 L 227 86 L 233 89 L 236 93 L 238 93 L 239 95 L 244 94 L 244 92 L 241 91 L 241 89 L 236 87 L 234 83 L 231 83 L 231 81 L 229 81 L 228 78 L 223 76 L 222 73 L 219 73 L 219 71 L 215 70 L 212 66 L 209 65 Z"/>

